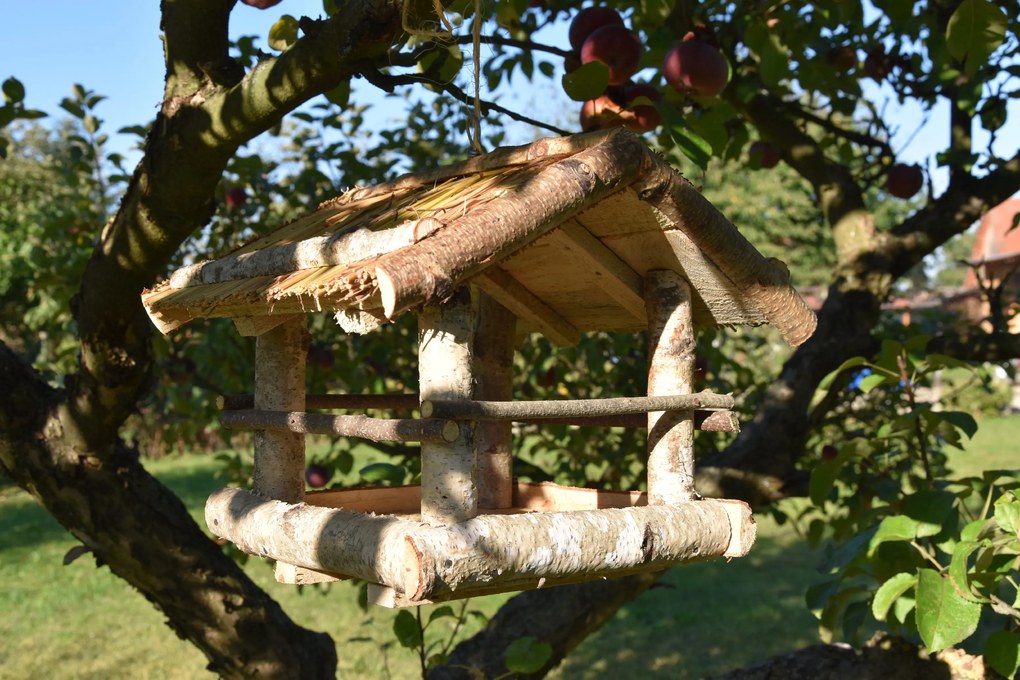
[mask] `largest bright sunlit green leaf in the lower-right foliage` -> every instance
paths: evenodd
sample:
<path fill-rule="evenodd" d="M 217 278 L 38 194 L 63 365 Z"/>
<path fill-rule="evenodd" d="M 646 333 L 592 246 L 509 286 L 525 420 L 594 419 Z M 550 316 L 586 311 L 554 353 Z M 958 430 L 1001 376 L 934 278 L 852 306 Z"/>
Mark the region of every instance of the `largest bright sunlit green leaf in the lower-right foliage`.
<path fill-rule="evenodd" d="M 981 606 L 962 597 L 949 577 L 933 569 L 917 572 L 917 632 L 934 653 L 970 637 Z"/>

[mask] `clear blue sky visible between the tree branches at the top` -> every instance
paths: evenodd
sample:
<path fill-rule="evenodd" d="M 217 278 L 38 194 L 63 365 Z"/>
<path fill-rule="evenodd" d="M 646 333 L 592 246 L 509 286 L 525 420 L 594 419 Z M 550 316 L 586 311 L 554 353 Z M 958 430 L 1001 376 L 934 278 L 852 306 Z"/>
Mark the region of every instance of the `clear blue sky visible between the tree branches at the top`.
<path fill-rule="evenodd" d="M 158 0 L 7 0 L 0 22 L 0 80 L 17 77 L 27 88 L 28 105 L 51 115 L 62 113 L 60 99 L 75 83 L 107 96 L 98 115 L 113 138 L 111 150 L 124 152 L 121 145 L 133 144 L 134 139 L 119 141 L 114 133 L 151 120 L 162 95 L 159 4 Z M 268 10 L 239 3 L 231 16 L 232 37 L 265 36 L 280 15 L 318 16 L 321 7 L 321 0 L 284 0 Z M 531 94 L 532 99 L 520 105 L 542 117 L 536 108 L 547 105 L 544 95 Z M 562 98 L 552 99 L 562 105 Z M 889 110 L 897 111 L 895 102 L 889 102 Z M 1020 100 L 1011 102 L 1010 113 L 1011 128 L 1001 134 L 997 147 L 1002 156 L 1012 156 L 1020 148 Z M 920 111 L 898 111 L 895 122 L 900 135 L 894 149 L 908 162 L 927 162 L 948 142 L 947 115 L 945 106 L 936 108 L 929 124 L 918 133 Z M 559 109 L 545 117 L 555 121 L 561 116 Z M 986 135 L 977 130 L 975 139 L 984 140 Z M 936 190 L 942 184 L 941 173 L 936 172 Z"/>

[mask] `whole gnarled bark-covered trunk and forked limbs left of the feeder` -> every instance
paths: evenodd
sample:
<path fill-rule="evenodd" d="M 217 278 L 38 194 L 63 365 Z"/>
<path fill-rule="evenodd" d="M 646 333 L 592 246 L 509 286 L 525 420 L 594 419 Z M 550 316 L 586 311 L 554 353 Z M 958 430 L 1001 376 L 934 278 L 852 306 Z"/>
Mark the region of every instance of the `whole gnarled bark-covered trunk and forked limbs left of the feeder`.
<path fill-rule="evenodd" d="M 139 296 L 212 215 L 238 147 L 382 57 L 400 34 L 401 4 L 351 3 L 242 81 L 227 55 L 233 0 L 164 2 L 166 98 L 73 301 L 80 370 L 54 390 L 0 345 L 6 474 L 224 677 L 333 677 L 336 647 L 290 621 L 118 439 L 150 379 L 151 326 Z"/>

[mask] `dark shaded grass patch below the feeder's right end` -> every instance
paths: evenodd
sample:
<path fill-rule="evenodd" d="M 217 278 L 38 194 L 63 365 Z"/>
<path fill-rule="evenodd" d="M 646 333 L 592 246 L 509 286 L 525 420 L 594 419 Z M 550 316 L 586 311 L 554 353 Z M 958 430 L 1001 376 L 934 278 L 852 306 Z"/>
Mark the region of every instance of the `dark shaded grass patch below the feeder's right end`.
<path fill-rule="evenodd" d="M 674 567 L 553 677 L 701 678 L 816 642 L 804 592 L 817 560 L 788 530 L 769 533 L 746 558 Z"/>

